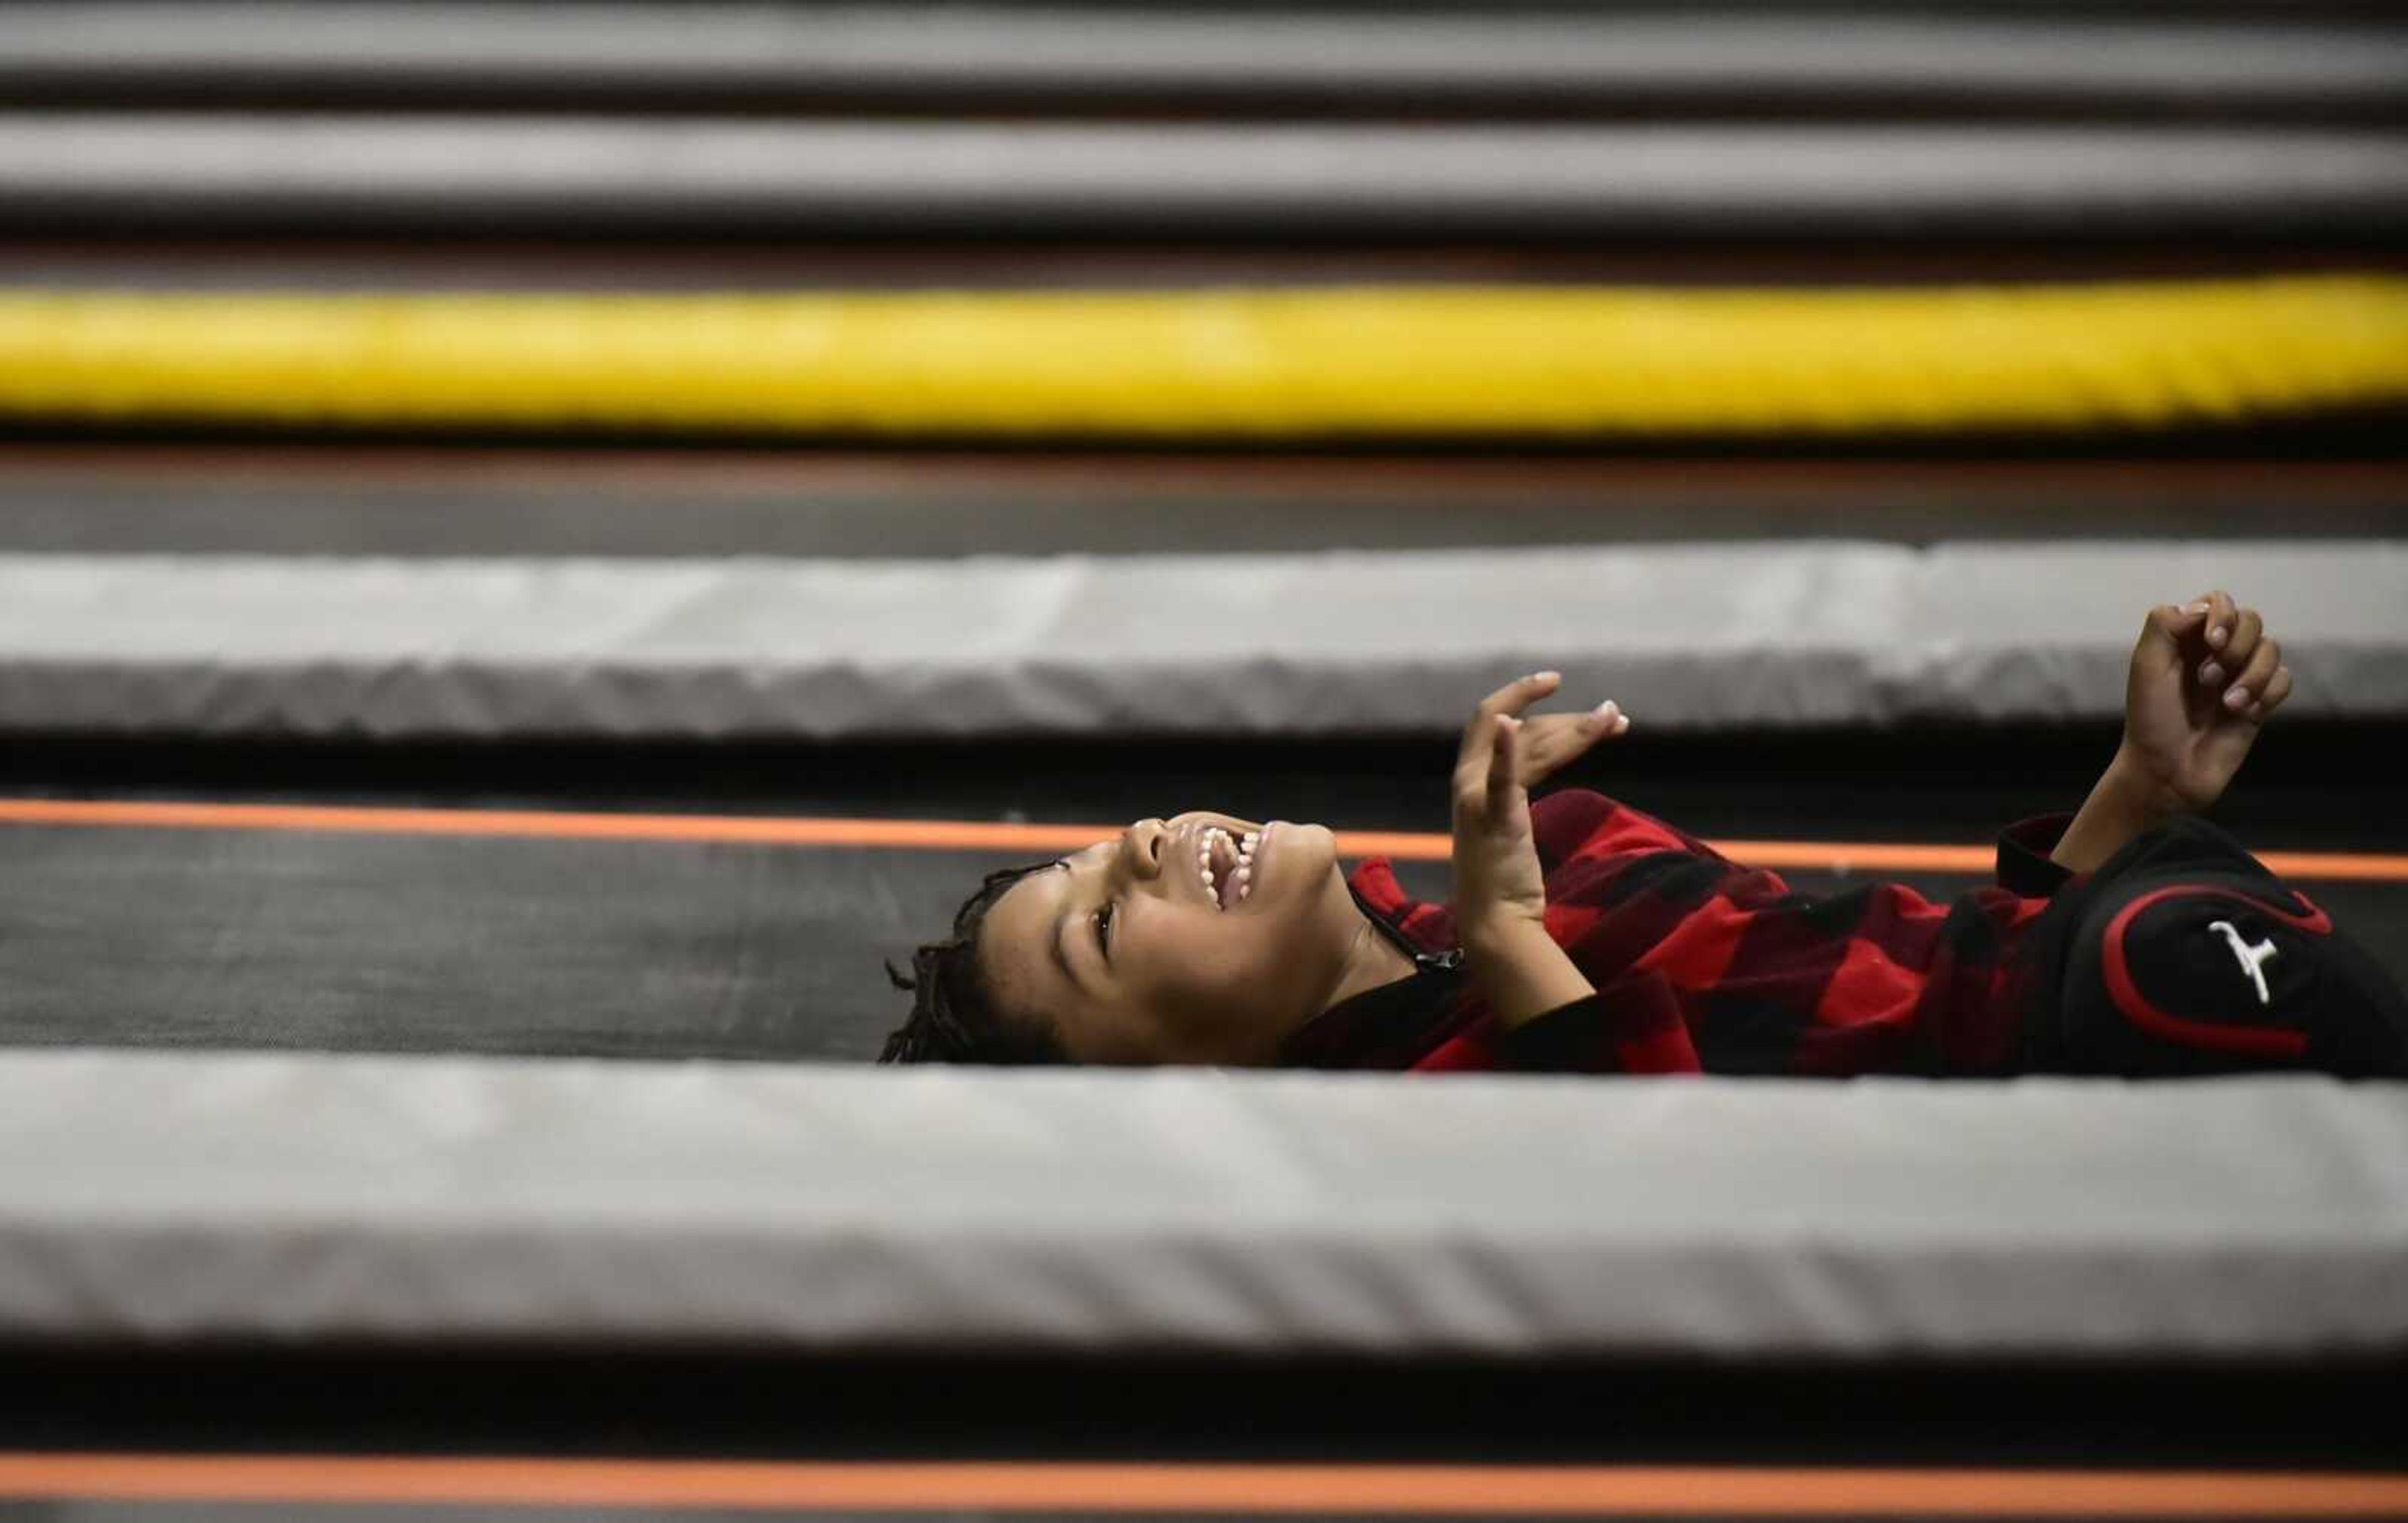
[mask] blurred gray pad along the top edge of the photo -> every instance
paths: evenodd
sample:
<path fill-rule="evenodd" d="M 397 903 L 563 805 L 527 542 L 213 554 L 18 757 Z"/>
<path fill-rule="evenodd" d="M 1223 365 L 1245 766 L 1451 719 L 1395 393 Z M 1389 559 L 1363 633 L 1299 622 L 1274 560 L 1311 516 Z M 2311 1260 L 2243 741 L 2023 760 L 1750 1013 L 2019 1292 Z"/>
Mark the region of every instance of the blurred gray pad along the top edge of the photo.
<path fill-rule="evenodd" d="M 0 10 L 0 89 L 217 87 L 775 91 L 944 101 L 1086 94 L 1317 101 L 1982 99 L 2283 108 L 2408 103 L 2398 26 L 2230 17 L 1702 14 L 1512 5 L 330 5 L 92 2 Z M 2018 14 L 2020 12 L 2020 14 Z"/>

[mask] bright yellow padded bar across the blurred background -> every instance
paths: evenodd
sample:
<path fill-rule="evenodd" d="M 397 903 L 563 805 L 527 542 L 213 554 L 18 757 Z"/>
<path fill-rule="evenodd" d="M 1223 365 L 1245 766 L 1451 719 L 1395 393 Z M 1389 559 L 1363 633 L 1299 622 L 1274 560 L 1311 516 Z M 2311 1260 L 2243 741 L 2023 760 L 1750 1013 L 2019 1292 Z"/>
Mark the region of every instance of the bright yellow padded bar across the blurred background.
<path fill-rule="evenodd" d="M 0 414 L 917 435 L 2102 431 L 2408 399 L 2408 279 L 0 291 Z"/>

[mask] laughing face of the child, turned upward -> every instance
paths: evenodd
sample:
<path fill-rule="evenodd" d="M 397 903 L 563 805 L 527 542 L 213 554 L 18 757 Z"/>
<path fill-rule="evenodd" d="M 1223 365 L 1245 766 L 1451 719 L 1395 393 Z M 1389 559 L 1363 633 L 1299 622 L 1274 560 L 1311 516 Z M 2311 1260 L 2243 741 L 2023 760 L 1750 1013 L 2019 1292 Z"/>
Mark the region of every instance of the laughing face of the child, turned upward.
<path fill-rule="evenodd" d="M 1243 900 L 1211 828 L 1262 832 Z M 1269 1063 L 1329 1008 L 1370 931 L 1322 825 L 1182 813 L 1014 883 L 980 955 L 1004 1006 L 1050 1015 L 1074 1061 Z"/>

